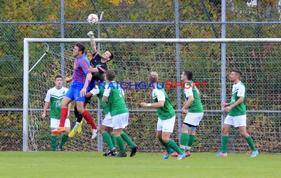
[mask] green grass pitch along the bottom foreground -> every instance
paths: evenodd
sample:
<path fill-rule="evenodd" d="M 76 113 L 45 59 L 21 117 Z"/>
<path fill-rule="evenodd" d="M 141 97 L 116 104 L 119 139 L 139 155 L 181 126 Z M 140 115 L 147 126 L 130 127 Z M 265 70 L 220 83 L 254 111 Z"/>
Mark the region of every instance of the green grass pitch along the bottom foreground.
<path fill-rule="evenodd" d="M 129 152 L 128 152 L 129 153 Z M 130 153 L 129 153 L 130 154 Z M 280 178 L 281 155 L 191 153 L 184 160 L 163 153 L 103 157 L 102 152 L 0 152 L 1 178 Z"/>

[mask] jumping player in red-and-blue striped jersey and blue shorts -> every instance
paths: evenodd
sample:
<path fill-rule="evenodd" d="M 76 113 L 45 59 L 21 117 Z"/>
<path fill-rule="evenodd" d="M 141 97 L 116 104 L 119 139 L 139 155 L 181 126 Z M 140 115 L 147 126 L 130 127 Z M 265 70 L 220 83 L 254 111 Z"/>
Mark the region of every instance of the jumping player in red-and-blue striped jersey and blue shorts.
<path fill-rule="evenodd" d="M 59 134 L 64 132 L 65 121 L 67 118 L 68 104 L 75 100 L 77 111 L 85 118 L 85 120 L 92 126 L 93 133 L 98 132 L 98 128 L 95 125 L 91 114 L 84 109 L 85 95 L 92 79 L 92 74 L 90 71 L 90 62 L 86 58 L 85 45 L 82 43 L 76 43 L 73 48 L 73 56 L 76 57 L 73 65 L 73 75 L 72 82 L 70 84 L 70 89 L 64 96 L 61 102 L 61 117 L 60 126 L 53 130 L 53 134 Z M 66 81 L 68 82 L 68 81 Z"/>

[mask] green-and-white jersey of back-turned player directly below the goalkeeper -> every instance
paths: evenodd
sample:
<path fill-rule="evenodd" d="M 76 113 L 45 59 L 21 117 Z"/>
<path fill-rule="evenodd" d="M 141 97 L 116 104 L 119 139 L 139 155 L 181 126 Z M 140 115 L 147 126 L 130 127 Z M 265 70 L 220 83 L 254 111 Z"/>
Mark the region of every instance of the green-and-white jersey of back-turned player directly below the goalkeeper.
<path fill-rule="evenodd" d="M 108 97 L 107 105 L 111 116 L 129 113 L 124 95 L 123 89 L 117 82 L 112 81 L 105 85 L 104 96 Z"/>

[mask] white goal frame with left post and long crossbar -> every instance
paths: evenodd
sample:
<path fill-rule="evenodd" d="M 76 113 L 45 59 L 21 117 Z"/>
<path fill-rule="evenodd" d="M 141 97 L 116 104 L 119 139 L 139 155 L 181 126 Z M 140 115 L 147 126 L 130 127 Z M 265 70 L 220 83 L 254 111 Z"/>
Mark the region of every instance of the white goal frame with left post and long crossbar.
<path fill-rule="evenodd" d="M 226 46 L 226 43 L 281 43 L 281 38 L 241 38 L 241 39 L 95 39 L 96 43 L 216 43 Z M 29 44 L 30 43 L 90 43 L 90 39 L 66 38 L 25 38 L 24 39 L 24 83 L 23 83 L 23 151 L 28 151 L 28 93 L 29 93 Z M 221 50 L 221 64 L 225 65 L 225 51 Z M 225 75 L 222 69 L 222 75 Z M 225 81 L 225 80 L 224 80 Z M 222 87 L 225 83 L 222 81 Z M 222 100 L 223 93 L 222 93 Z M 274 111 L 278 112 L 278 111 Z M 281 111 L 279 111 L 281 112 Z"/>

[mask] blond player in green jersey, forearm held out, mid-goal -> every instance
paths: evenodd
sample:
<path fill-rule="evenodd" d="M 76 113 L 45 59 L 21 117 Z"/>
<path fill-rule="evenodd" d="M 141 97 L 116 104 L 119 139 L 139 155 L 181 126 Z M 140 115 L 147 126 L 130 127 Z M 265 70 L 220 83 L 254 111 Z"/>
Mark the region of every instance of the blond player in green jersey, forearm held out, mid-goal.
<path fill-rule="evenodd" d="M 169 156 L 175 151 L 180 154 L 177 158 L 182 160 L 185 158 L 185 154 L 176 145 L 176 142 L 170 138 L 173 133 L 176 113 L 171 104 L 171 101 L 162 87 L 159 87 L 158 74 L 156 72 L 150 72 L 148 75 L 148 82 L 152 83 L 154 88 L 152 90 L 152 98 L 154 103 L 142 102 L 140 105 L 142 107 L 154 107 L 158 112 L 158 122 L 157 122 L 157 138 L 160 143 L 166 148 L 167 154 L 164 155 L 163 159 L 168 159 Z M 174 151 L 175 150 L 175 151 Z"/>

